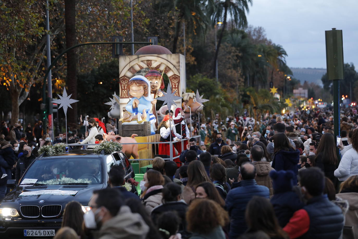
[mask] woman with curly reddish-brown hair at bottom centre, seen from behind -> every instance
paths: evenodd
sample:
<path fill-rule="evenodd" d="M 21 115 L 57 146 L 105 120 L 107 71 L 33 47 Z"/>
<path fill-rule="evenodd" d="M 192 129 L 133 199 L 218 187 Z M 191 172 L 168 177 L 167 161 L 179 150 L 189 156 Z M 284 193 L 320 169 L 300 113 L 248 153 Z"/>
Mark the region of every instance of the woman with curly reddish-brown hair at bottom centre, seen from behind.
<path fill-rule="evenodd" d="M 190 239 L 226 239 L 222 229 L 229 222 L 227 211 L 213 200 L 196 199 L 187 212 L 187 228 L 193 232 Z"/>

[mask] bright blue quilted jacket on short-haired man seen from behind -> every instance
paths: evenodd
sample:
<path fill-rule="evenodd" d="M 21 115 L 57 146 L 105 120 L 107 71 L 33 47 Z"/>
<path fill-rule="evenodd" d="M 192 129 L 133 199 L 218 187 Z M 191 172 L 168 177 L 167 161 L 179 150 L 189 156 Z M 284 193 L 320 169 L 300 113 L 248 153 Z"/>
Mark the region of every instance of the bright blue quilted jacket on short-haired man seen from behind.
<path fill-rule="evenodd" d="M 257 185 L 255 179 L 243 180 L 240 186 L 229 191 L 226 196 L 225 207 L 230 215 L 229 239 L 236 239 L 245 233 L 245 210 L 247 203 L 253 196 L 270 198 L 268 187 Z"/>

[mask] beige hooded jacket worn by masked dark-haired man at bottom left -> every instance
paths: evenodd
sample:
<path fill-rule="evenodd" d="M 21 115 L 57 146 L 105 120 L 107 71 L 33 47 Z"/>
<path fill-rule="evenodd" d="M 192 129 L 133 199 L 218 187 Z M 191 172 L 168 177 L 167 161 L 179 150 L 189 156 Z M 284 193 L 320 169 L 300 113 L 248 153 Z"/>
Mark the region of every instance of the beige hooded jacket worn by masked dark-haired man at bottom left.
<path fill-rule="evenodd" d="M 149 226 L 140 214 L 132 213 L 128 206 L 121 206 L 117 216 L 102 225 L 98 239 L 145 239 L 148 232 Z"/>

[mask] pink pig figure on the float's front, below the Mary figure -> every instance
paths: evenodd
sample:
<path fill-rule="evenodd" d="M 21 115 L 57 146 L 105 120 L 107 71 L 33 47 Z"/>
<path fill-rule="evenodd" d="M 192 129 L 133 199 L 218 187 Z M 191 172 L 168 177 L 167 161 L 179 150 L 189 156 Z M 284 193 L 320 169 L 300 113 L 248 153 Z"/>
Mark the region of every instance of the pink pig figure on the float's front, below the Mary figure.
<path fill-rule="evenodd" d="M 103 133 L 103 140 L 105 141 L 114 141 L 118 143 L 137 143 L 135 140 L 135 136 L 138 136 L 137 134 L 132 134 L 132 137 L 122 137 L 119 135 L 115 135 L 115 133 L 112 131 L 108 134 Z M 134 159 L 138 159 L 138 144 L 123 144 L 122 145 L 122 152 L 127 156 L 129 159 L 131 156 L 133 156 Z"/>

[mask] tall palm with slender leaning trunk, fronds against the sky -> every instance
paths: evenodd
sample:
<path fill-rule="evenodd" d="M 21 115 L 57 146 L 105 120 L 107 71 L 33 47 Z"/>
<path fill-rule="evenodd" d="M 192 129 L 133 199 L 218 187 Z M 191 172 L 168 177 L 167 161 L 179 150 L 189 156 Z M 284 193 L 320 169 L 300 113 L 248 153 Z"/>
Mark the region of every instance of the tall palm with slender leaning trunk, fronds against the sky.
<path fill-rule="evenodd" d="M 224 30 L 226 29 L 227 24 L 227 15 L 229 14 L 232 19 L 232 24 L 235 24 L 236 27 L 241 28 L 247 25 L 246 12 L 248 13 L 248 4 L 252 5 L 252 0 L 216 0 L 215 6 L 208 4 L 207 11 L 208 15 L 211 16 L 213 23 L 216 25 L 218 21 L 223 19 L 222 30 L 219 35 L 218 44 L 216 47 L 216 52 L 214 55 L 213 61 L 213 77 L 215 77 L 215 66 L 216 60 L 218 58 L 220 45 L 224 35 Z"/>

